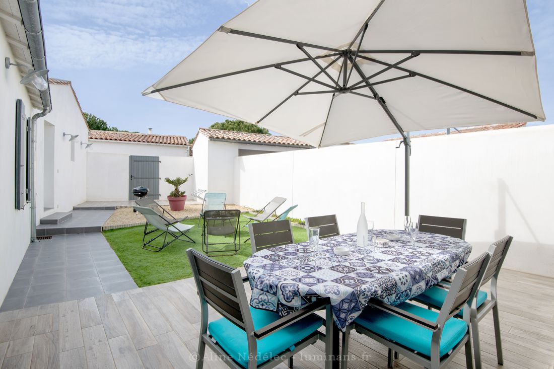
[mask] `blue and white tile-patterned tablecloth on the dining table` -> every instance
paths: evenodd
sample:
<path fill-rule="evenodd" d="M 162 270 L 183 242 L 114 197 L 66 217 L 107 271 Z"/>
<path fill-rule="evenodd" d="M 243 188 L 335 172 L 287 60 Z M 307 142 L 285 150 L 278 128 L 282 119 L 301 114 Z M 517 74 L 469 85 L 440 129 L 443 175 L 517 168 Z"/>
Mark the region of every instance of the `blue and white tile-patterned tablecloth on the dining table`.
<path fill-rule="evenodd" d="M 403 231 L 373 231 L 379 238 L 394 233 Z M 316 262 L 307 245 L 268 248 L 244 261 L 252 287 L 250 305 L 286 315 L 317 297 L 329 297 L 341 330 L 360 315 L 370 298 L 400 304 L 452 275 L 471 253 L 471 245 L 461 239 L 424 232 L 415 244 L 403 238 L 376 248 L 372 262 L 363 260 L 356 234 L 320 240 Z M 348 256 L 333 252 L 349 245 L 354 251 Z"/>

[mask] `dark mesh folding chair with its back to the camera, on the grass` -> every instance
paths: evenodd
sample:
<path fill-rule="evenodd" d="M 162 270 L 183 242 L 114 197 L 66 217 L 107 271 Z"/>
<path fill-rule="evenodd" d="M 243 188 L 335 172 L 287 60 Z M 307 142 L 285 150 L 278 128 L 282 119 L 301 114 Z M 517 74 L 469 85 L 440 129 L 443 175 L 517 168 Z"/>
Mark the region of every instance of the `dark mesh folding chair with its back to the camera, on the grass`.
<path fill-rule="evenodd" d="M 240 232 L 239 232 L 240 210 L 207 210 L 204 212 L 204 225 L 202 228 L 202 251 L 209 253 L 232 253 L 237 254 L 240 250 Z M 232 235 L 233 242 L 225 241 L 222 237 Z M 239 242 L 237 244 L 237 235 Z M 210 237 L 212 236 L 212 237 Z M 217 237 L 211 242 L 210 238 Z M 210 250 L 209 247 L 215 245 L 230 245 L 232 249 L 216 248 Z M 205 247 L 205 248 L 204 248 Z"/>

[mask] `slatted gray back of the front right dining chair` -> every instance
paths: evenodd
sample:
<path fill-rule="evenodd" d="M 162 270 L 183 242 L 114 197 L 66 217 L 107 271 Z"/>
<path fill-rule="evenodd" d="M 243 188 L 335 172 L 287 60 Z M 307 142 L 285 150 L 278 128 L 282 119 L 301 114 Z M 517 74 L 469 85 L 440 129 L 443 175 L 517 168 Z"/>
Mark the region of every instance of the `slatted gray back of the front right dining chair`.
<path fill-rule="evenodd" d="M 481 280 L 483 280 L 493 252 L 494 246 L 491 245 L 489 252 L 479 255 L 478 258 L 465 263 L 458 269 L 442 309 L 440 309 L 437 324 L 444 326 L 445 321 L 458 314 L 461 309 L 464 309 L 464 320 L 469 323 L 471 304 L 479 291 Z"/>

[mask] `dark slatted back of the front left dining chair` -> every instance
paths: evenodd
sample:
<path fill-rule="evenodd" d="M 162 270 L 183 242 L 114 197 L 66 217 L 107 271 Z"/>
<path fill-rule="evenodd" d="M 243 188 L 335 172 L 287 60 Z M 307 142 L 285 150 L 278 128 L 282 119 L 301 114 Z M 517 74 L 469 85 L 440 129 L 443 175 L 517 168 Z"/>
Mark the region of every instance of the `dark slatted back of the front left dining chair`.
<path fill-rule="evenodd" d="M 187 250 L 202 305 L 212 306 L 219 314 L 247 332 L 253 330 L 240 271 L 199 253 Z"/>

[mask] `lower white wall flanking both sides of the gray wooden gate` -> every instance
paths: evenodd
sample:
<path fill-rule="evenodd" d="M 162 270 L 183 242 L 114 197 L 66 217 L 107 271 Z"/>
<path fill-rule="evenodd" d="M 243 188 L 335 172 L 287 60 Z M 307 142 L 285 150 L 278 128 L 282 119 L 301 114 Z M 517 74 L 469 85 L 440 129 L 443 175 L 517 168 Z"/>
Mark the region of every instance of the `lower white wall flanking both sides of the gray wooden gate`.
<path fill-rule="evenodd" d="M 160 198 L 172 189 L 163 178 L 186 177 L 191 173 L 194 173 L 192 157 L 160 156 Z M 89 152 L 86 178 L 87 201 L 129 200 L 129 154 Z M 194 176 L 181 189 L 191 194 Z"/>

